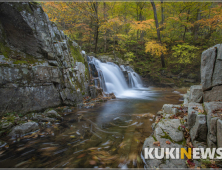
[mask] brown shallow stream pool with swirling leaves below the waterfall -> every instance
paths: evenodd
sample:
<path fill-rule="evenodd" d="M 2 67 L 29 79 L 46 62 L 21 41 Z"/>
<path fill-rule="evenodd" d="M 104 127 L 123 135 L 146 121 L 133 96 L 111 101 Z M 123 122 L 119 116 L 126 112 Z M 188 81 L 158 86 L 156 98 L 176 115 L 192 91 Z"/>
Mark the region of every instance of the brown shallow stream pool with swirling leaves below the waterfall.
<path fill-rule="evenodd" d="M 94 108 L 76 109 L 62 123 L 9 144 L 0 153 L 0 167 L 143 168 L 140 155 L 152 133 L 152 114 L 163 104 L 181 104 L 184 92 L 131 90 Z"/>

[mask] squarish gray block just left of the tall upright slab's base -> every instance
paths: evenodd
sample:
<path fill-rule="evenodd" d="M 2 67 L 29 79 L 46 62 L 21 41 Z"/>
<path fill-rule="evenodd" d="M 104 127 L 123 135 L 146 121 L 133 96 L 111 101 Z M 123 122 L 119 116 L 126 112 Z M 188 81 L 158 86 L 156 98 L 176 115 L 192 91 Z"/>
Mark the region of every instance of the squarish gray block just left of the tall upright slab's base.
<path fill-rule="evenodd" d="M 203 90 L 201 85 L 194 85 L 190 87 L 189 101 L 196 103 L 203 102 Z"/>

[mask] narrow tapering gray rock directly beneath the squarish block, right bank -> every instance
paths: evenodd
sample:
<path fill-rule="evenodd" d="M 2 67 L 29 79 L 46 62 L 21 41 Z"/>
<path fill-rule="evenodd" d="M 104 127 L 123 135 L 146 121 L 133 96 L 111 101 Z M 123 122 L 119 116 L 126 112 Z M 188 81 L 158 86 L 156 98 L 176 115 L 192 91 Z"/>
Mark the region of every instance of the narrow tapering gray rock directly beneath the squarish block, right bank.
<path fill-rule="evenodd" d="M 187 118 L 188 129 L 191 129 L 196 122 L 196 117 L 198 115 L 198 109 L 196 110 L 194 108 L 198 108 L 200 110 L 203 110 L 203 106 L 199 103 L 189 103 L 188 104 L 188 118 Z"/>

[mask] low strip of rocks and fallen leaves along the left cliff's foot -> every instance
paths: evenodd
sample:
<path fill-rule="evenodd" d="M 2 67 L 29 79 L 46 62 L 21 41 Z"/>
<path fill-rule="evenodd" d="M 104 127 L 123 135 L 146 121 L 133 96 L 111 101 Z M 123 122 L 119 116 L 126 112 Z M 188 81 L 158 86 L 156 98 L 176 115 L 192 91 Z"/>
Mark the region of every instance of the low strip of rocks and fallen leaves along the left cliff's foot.
<path fill-rule="evenodd" d="M 115 99 L 113 93 L 106 95 L 99 95 L 97 98 L 91 98 L 89 96 L 83 98 L 83 103 L 74 106 L 60 106 L 56 108 L 48 108 L 42 112 L 32 112 L 27 114 L 20 113 L 7 113 L 1 117 L 0 120 L 0 137 L 12 137 L 23 138 L 25 135 L 33 133 L 46 128 L 47 126 L 53 126 L 60 124 L 63 121 L 63 116 L 71 114 L 77 109 L 88 109 L 106 102 L 111 99 Z M 75 120 L 75 121 L 78 121 Z M 1 142 L 5 143 L 5 142 Z"/>

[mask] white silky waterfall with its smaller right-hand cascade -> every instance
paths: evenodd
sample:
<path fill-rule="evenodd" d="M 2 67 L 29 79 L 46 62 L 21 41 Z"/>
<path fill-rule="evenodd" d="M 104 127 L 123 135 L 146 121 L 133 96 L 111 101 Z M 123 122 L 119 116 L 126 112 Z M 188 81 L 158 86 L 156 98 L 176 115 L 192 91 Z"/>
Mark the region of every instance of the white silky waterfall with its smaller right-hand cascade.
<path fill-rule="evenodd" d="M 87 58 L 89 65 L 94 65 L 98 73 L 100 87 L 105 93 L 114 93 L 117 97 L 129 91 L 130 88 L 142 88 L 140 76 L 129 66 L 120 67 L 112 62 L 101 62 L 95 57 Z M 92 71 L 92 67 L 91 67 Z M 129 84 L 123 72 L 128 73 Z M 95 74 L 94 74 L 95 75 Z"/>

